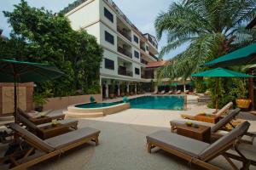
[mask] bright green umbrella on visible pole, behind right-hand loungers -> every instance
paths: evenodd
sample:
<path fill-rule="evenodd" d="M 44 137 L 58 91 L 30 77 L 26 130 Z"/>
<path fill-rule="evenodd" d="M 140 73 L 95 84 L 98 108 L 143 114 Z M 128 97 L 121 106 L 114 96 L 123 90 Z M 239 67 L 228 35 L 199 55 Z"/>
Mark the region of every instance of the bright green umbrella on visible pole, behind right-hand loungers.
<path fill-rule="evenodd" d="M 212 69 L 210 71 L 204 71 L 200 73 L 196 73 L 191 75 L 191 77 L 216 77 L 216 88 L 215 88 L 215 94 L 216 94 L 216 111 L 218 111 L 218 82 L 220 77 L 253 77 L 251 75 L 243 74 L 241 72 L 236 71 L 230 71 L 224 68 L 216 68 Z"/>

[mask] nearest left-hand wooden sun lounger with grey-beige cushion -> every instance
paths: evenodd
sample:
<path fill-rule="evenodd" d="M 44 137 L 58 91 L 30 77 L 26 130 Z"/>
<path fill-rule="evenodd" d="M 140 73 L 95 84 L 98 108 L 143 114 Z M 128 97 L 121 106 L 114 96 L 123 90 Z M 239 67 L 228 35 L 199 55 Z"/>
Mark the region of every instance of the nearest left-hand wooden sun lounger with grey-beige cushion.
<path fill-rule="evenodd" d="M 90 141 L 95 142 L 97 145 L 100 134 L 100 131 L 95 128 L 84 127 L 54 138 L 42 140 L 15 123 L 10 123 L 8 127 L 14 130 L 20 136 L 20 139 L 24 139 L 27 144 L 32 146 L 30 149 L 24 150 L 25 154 L 23 157 L 20 157 L 20 155 L 17 157 L 16 154 L 12 154 L 1 159 L 1 161 L 13 162 L 15 165 L 13 169 L 32 167 L 54 156 L 61 156 L 64 152 Z M 34 150 L 37 150 L 36 154 L 31 156 Z"/>

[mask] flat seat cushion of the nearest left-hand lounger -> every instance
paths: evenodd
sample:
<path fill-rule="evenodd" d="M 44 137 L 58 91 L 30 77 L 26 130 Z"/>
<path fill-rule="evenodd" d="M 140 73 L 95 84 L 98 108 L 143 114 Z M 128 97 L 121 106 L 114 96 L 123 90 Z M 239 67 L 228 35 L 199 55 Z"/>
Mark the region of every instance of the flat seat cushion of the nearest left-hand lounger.
<path fill-rule="evenodd" d="M 44 142 L 53 145 L 55 147 L 55 150 L 58 150 L 62 147 L 67 146 L 68 144 L 73 144 L 75 142 L 78 142 L 79 140 L 95 136 L 98 133 L 100 133 L 100 131 L 95 128 L 84 127 L 70 133 L 64 133 L 59 136 L 46 139 L 44 140 Z"/>

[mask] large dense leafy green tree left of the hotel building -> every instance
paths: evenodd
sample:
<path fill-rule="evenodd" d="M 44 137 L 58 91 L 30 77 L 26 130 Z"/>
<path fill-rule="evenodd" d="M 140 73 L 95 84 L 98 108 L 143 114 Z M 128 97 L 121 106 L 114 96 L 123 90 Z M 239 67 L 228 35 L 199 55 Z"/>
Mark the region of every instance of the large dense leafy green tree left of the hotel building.
<path fill-rule="evenodd" d="M 13 27 L 13 38 L 10 41 L 19 40 L 18 44 L 22 49 L 22 54 L 9 56 L 49 63 L 65 73 L 65 76 L 56 81 L 38 84 L 38 91 L 44 92 L 50 88 L 55 96 L 66 96 L 75 94 L 78 89 L 84 89 L 84 93 L 87 93 L 88 88 L 93 88 L 94 85 L 99 87 L 103 50 L 97 44 L 96 37 L 86 31 L 73 31 L 64 14 L 53 14 L 44 8 L 32 8 L 24 0 L 15 5 L 14 11 L 4 11 L 3 14 Z M 14 45 L 15 42 L 10 42 L 7 46 L 13 49 Z M 5 51 L 9 53 L 8 50 Z M 100 88 L 96 90 L 99 92 Z"/>

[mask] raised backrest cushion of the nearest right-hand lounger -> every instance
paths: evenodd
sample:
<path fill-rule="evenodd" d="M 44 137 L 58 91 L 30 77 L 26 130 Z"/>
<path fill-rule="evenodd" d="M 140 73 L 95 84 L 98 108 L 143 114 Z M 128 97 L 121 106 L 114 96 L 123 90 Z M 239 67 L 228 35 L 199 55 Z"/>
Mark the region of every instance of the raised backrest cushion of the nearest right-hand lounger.
<path fill-rule="evenodd" d="M 235 141 L 238 137 L 241 137 L 244 133 L 247 132 L 247 129 L 249 128 L 250 123 L 249 122 L 243 122 L 240 125 L 238 125 L 236 128 L 230 131 L 230 133 L 224 135 L 220 139 L 218 139 L 216 142 L 211 144 L 207 150 L 204 150 L 200 154 L 200 158 L 204 161 L 207 161 L 207 159 L 210 158 L 210 156 L 217 153 L 217 151 L 221 151 L 221 148 L 223 148 L 225 145 L 230 144 L 230 142 Z"/>

